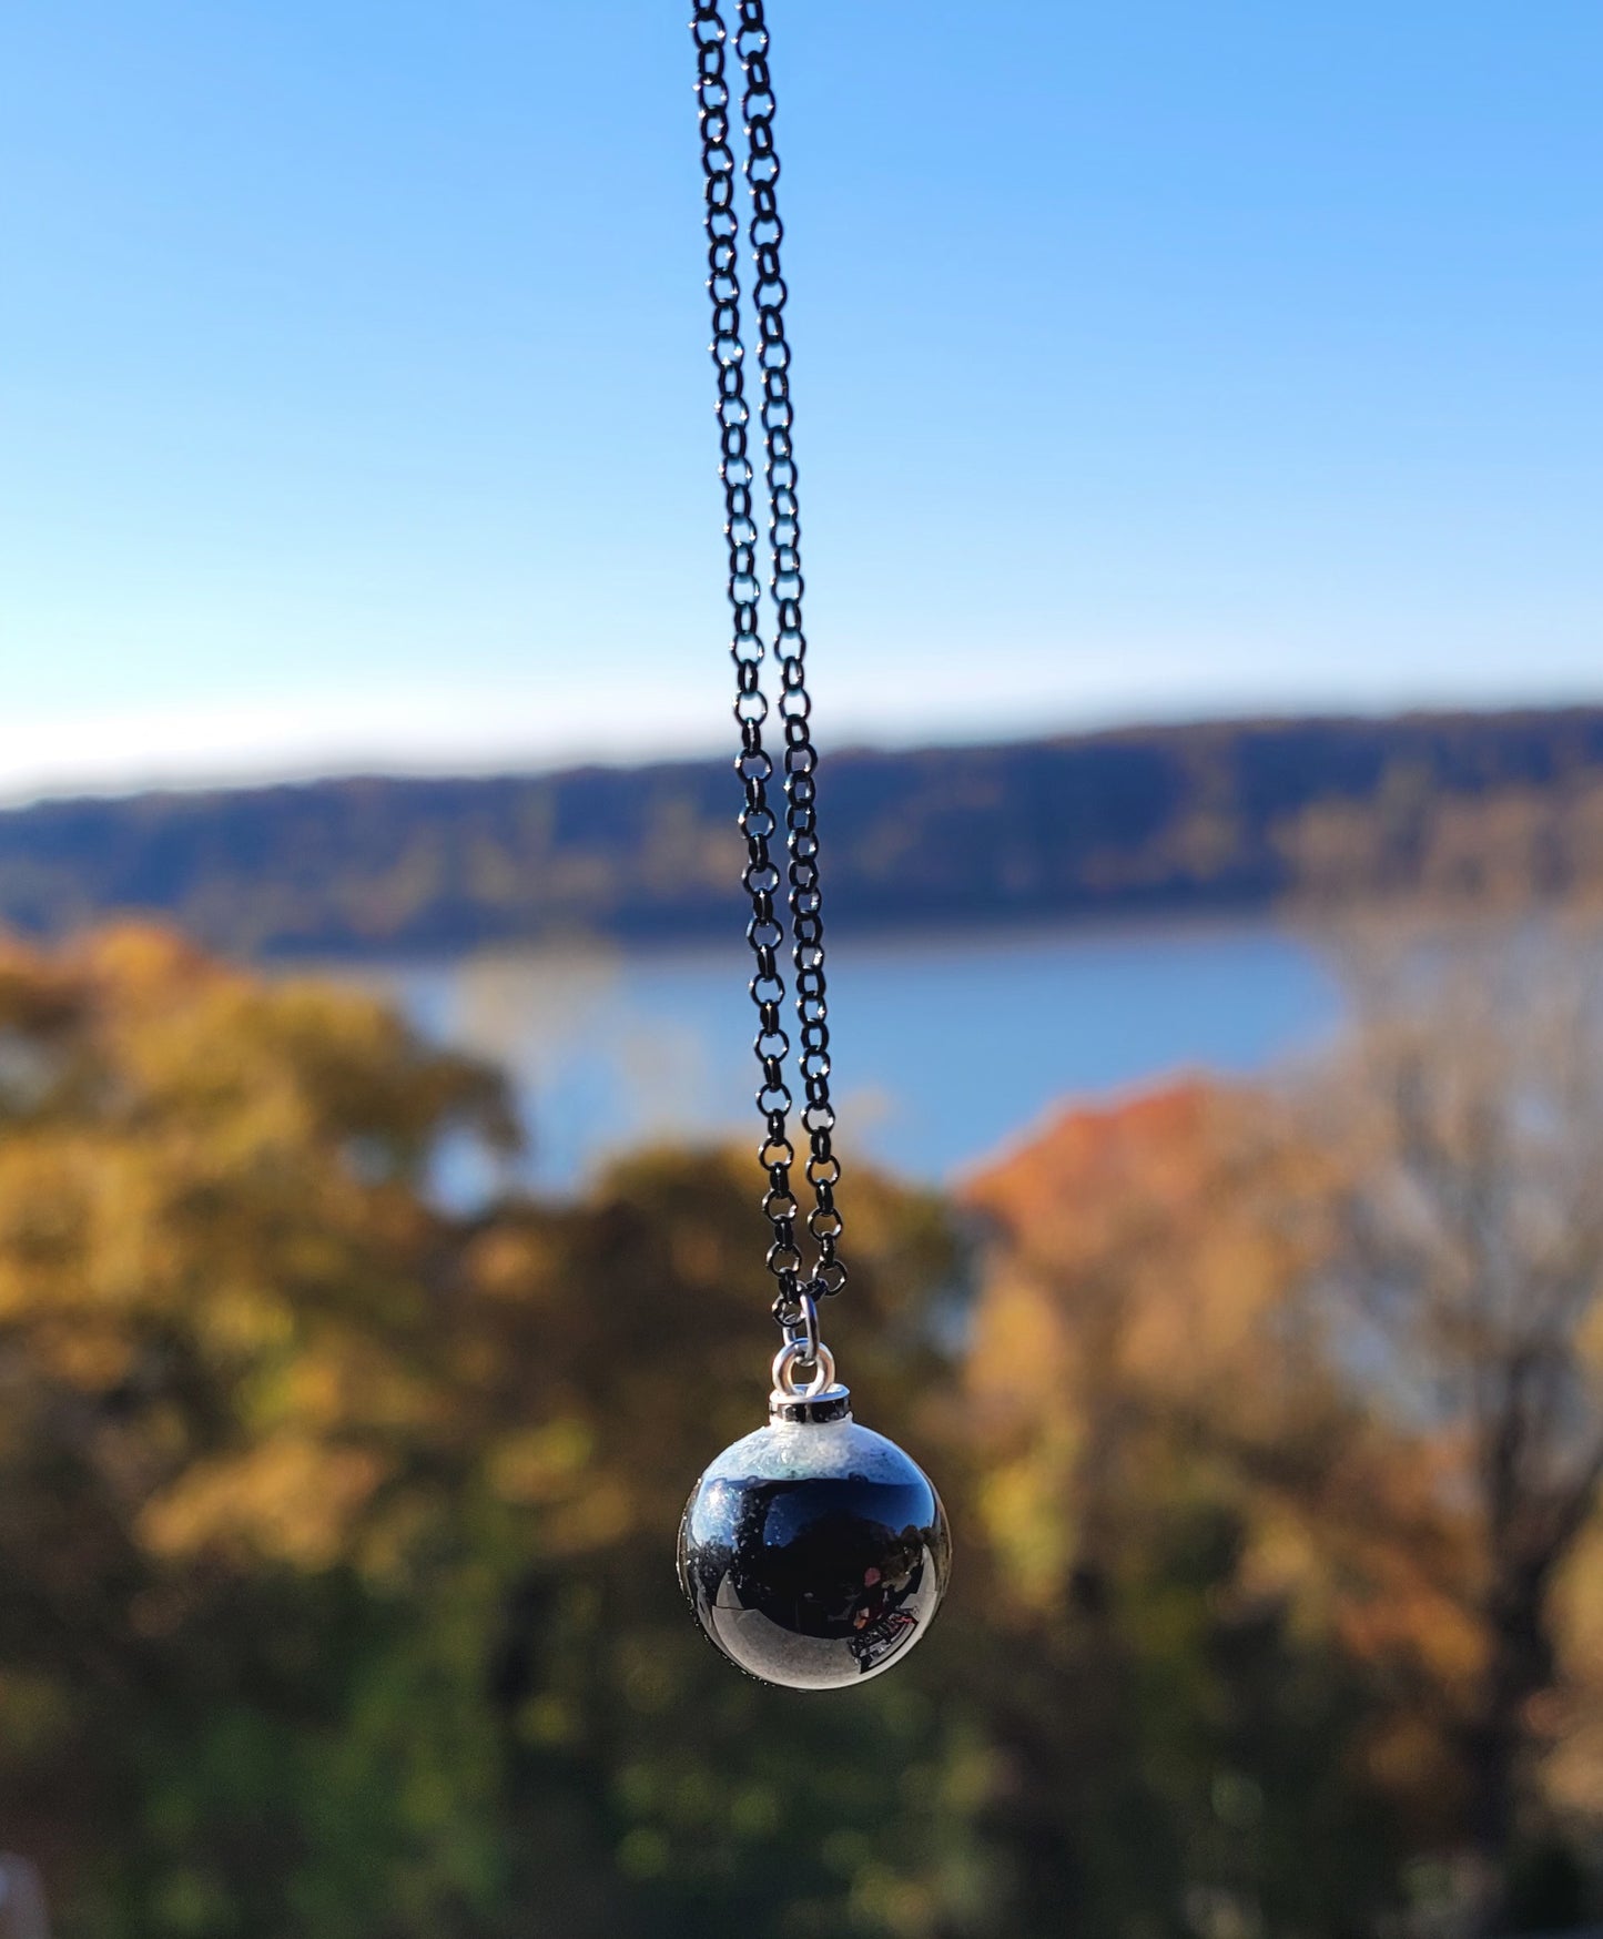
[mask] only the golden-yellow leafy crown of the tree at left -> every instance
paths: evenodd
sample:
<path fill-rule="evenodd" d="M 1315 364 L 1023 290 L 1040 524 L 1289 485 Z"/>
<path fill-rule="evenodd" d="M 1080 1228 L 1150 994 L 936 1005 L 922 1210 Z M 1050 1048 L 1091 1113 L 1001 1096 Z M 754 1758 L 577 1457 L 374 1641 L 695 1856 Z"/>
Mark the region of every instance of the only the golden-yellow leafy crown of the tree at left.
<path fill-rule="evenodd" d="M 353 991 L 149 927 L 0 950 L 0 1342 L 25 1431 L 153 1557 L 326 1567 L 444 1433 L 419 1183 L 450 1123 L 504 1138 L 496 1080 Z"/>

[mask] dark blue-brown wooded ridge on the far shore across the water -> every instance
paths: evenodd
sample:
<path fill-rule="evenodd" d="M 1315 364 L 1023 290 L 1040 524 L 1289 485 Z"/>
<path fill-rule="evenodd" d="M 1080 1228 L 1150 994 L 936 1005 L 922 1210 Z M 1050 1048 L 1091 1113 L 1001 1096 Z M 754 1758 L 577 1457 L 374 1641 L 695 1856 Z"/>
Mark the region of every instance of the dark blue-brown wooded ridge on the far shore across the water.
<path fill-rule="evenodd" d="M 739 940 L 723 758 L 0 811 L 0 923 L 266 960 Z M 1603 708 L 1198 721 L 828 756 L 837 937 L 1603 906 Z"/>

